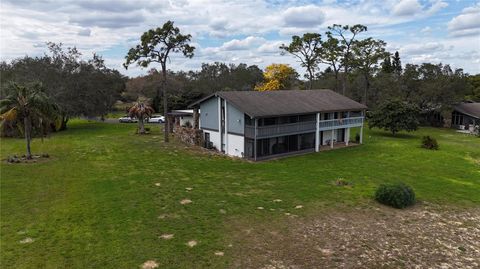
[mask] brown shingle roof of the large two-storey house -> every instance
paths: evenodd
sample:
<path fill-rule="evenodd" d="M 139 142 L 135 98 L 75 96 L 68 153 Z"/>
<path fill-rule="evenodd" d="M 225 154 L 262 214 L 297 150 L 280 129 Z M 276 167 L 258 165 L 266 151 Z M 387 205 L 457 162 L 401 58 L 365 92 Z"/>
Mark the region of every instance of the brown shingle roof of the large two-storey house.
<path fill-rule="evenodd" d="M 250 117 L 363 110 L 367 107 L 331 90 L 224 91 L 193 103 L 197 106 L 220 96 Z"/>

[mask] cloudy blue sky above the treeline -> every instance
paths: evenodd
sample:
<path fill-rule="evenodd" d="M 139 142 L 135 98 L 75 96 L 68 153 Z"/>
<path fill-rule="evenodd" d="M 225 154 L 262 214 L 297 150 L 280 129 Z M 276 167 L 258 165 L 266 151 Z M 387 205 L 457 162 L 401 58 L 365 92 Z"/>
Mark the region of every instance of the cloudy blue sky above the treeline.
<path fill-rule="evenodd" d="M 131 77 L 158 68 L 126 70 L 122 63 L 143 32 L 167 20 L 191 34 L 196 47 L 192 59 L 174 55 L 172 70 L 215 61 L 260 68 L 286 63 L 304 74 L 293 56 L 280 54 L 282 43 L 306 32 L 323 35 L 332 24 L 363 24 L 368 31 L 359 38 L 386 41 L 403 64 L 441 62 L 480 73 L 478 0 L 1 0 L 0 20 L 1 60 L 40 56 L 46 42 L 61 42 L 85 59 L 100 54 Z"/>

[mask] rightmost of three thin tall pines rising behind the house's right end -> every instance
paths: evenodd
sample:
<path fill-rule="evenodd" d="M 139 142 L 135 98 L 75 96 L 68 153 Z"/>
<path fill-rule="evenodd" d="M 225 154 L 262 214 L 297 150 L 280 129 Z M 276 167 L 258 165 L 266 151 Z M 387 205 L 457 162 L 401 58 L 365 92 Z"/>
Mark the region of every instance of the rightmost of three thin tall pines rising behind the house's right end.
<path fill-rule="evenodd" d="M 363 94 L 363 104 L 367 105 L 367 95 L 370 90 L 370 78 L 378 69 L 378 63 L 381 59 L 389 57 L 385 52 L 387 44 L 382 40 L 367 38 L 354 43 L 353 50 L 353 65 L 360 71 L 364 80 L 365 88 Z"/>

